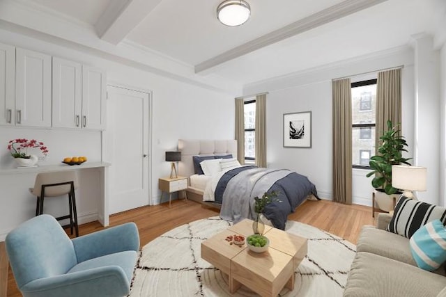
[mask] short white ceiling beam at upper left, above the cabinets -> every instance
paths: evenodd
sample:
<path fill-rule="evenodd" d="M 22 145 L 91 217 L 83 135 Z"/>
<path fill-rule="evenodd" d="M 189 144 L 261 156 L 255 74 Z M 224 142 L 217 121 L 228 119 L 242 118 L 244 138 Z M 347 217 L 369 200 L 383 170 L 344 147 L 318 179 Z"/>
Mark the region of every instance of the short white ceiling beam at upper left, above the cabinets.
<path fill-rule="evenodd" d="M 102 40 L 117 45 L 162 0 L 112 1 L 95 25 Z"/>

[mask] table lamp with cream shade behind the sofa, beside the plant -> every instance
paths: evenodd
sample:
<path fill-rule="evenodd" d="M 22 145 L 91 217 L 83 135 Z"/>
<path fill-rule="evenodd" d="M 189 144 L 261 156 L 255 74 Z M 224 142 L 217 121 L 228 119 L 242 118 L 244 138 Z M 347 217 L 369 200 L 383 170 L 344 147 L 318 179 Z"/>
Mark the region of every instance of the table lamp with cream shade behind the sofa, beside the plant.
<path fill-rule="evenodd" d="M 426 191 L 427 168 L 406 165 L 392 166 L 392 186 L 401 188 L 407 198 L 416 199 L 412 191 Z"/>

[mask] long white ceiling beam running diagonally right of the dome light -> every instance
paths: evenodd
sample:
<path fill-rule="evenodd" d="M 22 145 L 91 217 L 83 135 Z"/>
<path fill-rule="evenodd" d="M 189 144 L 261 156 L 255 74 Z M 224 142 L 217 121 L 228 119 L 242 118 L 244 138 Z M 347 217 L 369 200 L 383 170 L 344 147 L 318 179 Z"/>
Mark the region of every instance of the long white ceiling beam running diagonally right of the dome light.
<path fill-rule="evenodd" d="M 337 5 L 325 8 L 318 13 L 314 13 L 313 15 L 309 15 L 308 17 L 300 19 L 297 22 L 284 26 L 281 29 L 277 29 L 259 38 L 246 42 L 243 45 L 234 47 L 233 49 L 230 49 L 223 54 L 203 61 L 195 65 L 195 73 L 205 72 L 206 70 L 210 70 L 210 68 L 216 67 L 245 54 L 249 54 L 250 52 L 256 51 L 257 49 L 272 45 L 286 38 L 290 38 L 294 35 L 309 31 L 318 26 L 322 26 L 323 24 L 328 24 L 329 22 L 333 22 L 336 19 L 346 17 L 347 15 L 351 15 L 353 13 L 356 13 L 357 11 L 364 10 L 385 1 L 387 0 L 343 1 L 341 3 L 338 3 Z"/>

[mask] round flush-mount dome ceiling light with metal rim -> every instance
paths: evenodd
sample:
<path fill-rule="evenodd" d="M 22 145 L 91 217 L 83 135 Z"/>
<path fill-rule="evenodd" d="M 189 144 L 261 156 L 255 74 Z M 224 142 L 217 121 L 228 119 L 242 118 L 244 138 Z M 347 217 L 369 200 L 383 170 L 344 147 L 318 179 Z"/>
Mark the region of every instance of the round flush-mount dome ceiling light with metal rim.
<path fill-rule="evenodd" d="M 251 8 L 243 0 L 226 0 L 217 7 L 217 17 L 226 26 L 240 26 L 249 19 Z"/>

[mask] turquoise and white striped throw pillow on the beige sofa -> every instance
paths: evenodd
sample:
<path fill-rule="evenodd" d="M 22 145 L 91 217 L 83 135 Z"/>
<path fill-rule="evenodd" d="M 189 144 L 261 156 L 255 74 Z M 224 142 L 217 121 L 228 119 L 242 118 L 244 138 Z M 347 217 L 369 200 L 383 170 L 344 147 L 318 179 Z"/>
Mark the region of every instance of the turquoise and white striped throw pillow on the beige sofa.
<path fill-rule="evenodd" d="M 409 242 L 418 267 L 434 271 L 446 261 L 446 230 L 440 220 L 433 220 L 418 229 Z"/>

